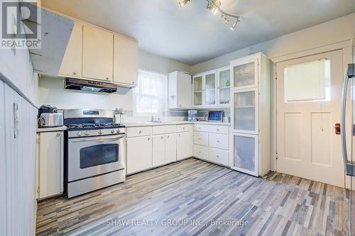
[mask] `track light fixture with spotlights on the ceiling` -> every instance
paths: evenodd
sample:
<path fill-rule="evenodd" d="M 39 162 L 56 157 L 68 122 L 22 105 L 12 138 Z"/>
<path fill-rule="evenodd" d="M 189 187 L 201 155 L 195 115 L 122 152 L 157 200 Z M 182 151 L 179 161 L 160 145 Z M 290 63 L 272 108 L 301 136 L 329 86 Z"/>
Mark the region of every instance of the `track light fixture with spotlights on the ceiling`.
<path fill-rule="evenodd" d="M 190 1 L 191 0 L 180 0 L 178 2 L 180 9 L 182 9 L 182 6 L 185 6 Z M 235 16 L 223 11 L 221 9 L 221 2 L 219 0 L 206 0 L 206 1 L 207 1 L 207 9 L 209 9 L 209 11 L 211 11 L 214 15 L 216 15 L 217 13 L 221 13 L 221 18 L 224 24 L 226 24 L 226 26 L 228 26 L 229 29 L 231 30 L 234 30 L 234 28 L 236 28 L 236 25 L 240 21 L 239 16 Z M 229 25 L 229 22 L 233 19 L 235 19 L 234 23 Z"/>

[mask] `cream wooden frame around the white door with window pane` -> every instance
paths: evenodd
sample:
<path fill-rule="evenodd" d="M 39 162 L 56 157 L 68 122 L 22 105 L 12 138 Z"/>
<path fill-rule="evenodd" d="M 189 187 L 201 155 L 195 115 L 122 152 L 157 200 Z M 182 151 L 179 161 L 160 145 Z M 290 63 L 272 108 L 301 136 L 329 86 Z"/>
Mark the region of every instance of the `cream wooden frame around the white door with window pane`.
<path fill-rule="evenodd" d="M 297 58 L 301 57 L 307 57 L 311 55 L 317 55 L 320 53 L 324 52 L 331 52 L 334 50 L 342 50 L 342 55 L 343 55 L 343 74 L 346 73 L 346 66 L 347 64 L 353 63 L 353 57 L 354 55 L 354 39 L 351 40 L 344 40 L 338 43 L 333 43 L 329 45 L 324 45 L 321 47 L 313 47 L 308 50 L 302 50 L 299 52 L 293 52 L 288 55 L 281 55 L 281 56 L 276 56 L 276 57 L 271 57 L 271 61 L 273 62 L 273 82 L 272 82 L 272 91 L 271 91 L 271 96 L 273 96 L 273 112 L 272 112 L 272 122 L 273 122 L 273 128 L 272 128 L 272 140 L 273 140 L 273 147 L 272 147 L 272 170 L 276 171 L 277 170 L 277 158 L 278 158 L 278 153 L 277 153 L 277 86 L 276 86 L 276 79 L 277 79 L 277 73 L 276 73 L 276 67 L 278 62 L 284 62 L 287 60 L 294 60 Z M 355 60 L 355 59 L 354 59 Z"/>

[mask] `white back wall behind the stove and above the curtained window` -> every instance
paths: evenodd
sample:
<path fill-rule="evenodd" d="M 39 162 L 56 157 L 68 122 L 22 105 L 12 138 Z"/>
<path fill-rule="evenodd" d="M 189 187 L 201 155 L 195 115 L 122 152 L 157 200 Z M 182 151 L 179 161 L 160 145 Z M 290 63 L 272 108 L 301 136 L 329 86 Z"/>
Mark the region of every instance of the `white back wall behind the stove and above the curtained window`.
<path fill-rule="evenodd" d="M 139 51 L 141 69 L 168 74 L 175 70 L 188 71 L 190 67 L 175 60 L 159 57 L 148 52 Z M 38 88 L 38 103 L 50 104 L 60 109 L 64 108 L 123 108 L 133 111 L 133 89 L 125 95 L 84 93 L 63 89 L 63 80 L 58 78 L 41 78 Z"/>

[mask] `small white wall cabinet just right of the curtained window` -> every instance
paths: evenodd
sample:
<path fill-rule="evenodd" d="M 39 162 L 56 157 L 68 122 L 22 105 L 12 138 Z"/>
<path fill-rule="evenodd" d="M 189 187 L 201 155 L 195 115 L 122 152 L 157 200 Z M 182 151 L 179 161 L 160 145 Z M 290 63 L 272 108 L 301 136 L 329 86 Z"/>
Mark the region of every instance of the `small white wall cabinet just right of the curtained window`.
<path fill-rule="evenodd" d="M 168 76 L 169 108 L 192 107 L 192 80 L 187 72 L 171 72 Z"/>

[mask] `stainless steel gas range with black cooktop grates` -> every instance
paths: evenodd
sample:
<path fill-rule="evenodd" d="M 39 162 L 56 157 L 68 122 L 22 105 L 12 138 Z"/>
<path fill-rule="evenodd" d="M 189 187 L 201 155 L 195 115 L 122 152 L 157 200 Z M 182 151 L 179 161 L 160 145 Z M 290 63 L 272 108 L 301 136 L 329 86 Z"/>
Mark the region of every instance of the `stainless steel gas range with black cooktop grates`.
<path fill-rule="evenodd" d="M 64 111 L 68 198 L 126 180 L 126 128 L 113 120 L 107 110 Z"/>

